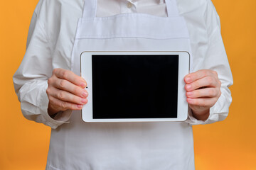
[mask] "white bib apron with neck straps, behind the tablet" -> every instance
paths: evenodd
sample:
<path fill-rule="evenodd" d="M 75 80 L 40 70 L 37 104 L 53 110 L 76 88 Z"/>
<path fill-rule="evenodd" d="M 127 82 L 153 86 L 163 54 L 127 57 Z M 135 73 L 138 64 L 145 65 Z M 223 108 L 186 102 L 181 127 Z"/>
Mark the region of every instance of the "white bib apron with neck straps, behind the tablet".
<path fill-rule="evenodd" d="M 75 74 L 80 75 L 84 51 L 191 51 L 176 0 L 166 0 L 166 18 L 142 13 L 97 18 L 96 8 L 97 0 L 85 0 L 73 46 Z M 85 123 L 74 111 L 70 123 L 51 132 L 46 169 L 191 170 L 192 128 L 178 122 Z"/>

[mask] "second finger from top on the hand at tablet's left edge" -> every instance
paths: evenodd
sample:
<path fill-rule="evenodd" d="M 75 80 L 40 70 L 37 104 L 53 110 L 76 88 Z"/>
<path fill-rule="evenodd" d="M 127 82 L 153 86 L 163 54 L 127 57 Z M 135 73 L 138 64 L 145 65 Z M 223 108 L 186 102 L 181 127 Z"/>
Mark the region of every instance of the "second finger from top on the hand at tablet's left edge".
<path fill-rule="evenodd" d="M 80 96 L 82 98 L 86 98 L 88 96 L 88 92 L 85 89 L 82 89 L 80 86 L 76 86 L 65 79 L 56 79 L 56 81 L 53 82 L 53 86 L 56 89 L 68 91 L 75 96 Z"/>

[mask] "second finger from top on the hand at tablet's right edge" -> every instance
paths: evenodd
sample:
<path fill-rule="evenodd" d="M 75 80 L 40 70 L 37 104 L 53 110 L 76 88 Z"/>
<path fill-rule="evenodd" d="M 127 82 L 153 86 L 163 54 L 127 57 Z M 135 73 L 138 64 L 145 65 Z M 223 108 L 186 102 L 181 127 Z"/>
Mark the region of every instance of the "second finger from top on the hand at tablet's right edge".
<path fill-rule="evenodd" d="M 193 81 L 193 83 L 191 84 L 186 84 L 185 89 L 186 91 L 193 91 L 203 87 L 217 87 L 217 86 L 218 86 L 218 79 L 215 79 L 215 77 L 203 77 L 202 79 Z"/>

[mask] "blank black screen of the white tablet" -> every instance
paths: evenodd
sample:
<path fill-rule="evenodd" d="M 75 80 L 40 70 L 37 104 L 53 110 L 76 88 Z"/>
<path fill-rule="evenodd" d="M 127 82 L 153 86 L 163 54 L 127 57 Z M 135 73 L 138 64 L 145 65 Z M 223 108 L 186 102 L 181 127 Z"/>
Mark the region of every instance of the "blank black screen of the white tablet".
<path fill-rule="evenodd" d="M 92 117 L 177 118 L 178 55 L 92 55 Z"/>

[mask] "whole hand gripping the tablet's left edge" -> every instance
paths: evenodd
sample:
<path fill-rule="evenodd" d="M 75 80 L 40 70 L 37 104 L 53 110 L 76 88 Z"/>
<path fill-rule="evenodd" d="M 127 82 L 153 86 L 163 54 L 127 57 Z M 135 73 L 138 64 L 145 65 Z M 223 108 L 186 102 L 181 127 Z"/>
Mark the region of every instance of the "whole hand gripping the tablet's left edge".
<path fill-rule="evenodd" d="M 53 69 L 46 90 L 49 98 L 48 114 L 51 116 L 68 109 L 81 110 L 87 103 L 86 86 L 85 79 L 75 73 L 66 69 Z"/>

